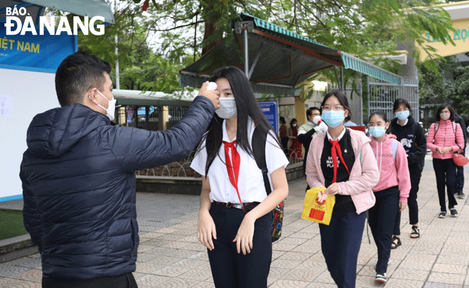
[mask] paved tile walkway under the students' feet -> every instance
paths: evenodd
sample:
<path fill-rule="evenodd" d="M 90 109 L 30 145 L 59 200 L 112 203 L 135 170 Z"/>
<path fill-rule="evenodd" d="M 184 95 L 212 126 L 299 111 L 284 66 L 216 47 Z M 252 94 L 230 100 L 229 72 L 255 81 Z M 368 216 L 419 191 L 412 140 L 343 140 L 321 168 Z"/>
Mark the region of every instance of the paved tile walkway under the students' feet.
<path fill-rule="evenodd" d="M 469 167 L 466 167 L 466 179 Z M 320 251 L 318 224 L 301 219 L 306 181 L 289 183 L 284 232 L 274 243 L 269 287 L 335 287 Z M 469 194 L 469 184 L 465 187 Z M 139 256 L 134 273 L 139 287 L 213 287 L 206 249 L 196 238 L 198 196 L 137 194 Z M 377 249 L 367 229 L 362 241 L 357 287 L 469 288 L 469 209 L 458 199 L 458 218 L 437 218 L 436 181 L 427 156 L 419 192 L 421 238 L 410 239 L 409 214 L 401 221 L 402 245 L 392 250 L 388 282 L 374 283 Z M 21 201 L 0 204 L 20 207 Z M 0 287 L 41 287 L 37 254 L 0 264 Z"/>

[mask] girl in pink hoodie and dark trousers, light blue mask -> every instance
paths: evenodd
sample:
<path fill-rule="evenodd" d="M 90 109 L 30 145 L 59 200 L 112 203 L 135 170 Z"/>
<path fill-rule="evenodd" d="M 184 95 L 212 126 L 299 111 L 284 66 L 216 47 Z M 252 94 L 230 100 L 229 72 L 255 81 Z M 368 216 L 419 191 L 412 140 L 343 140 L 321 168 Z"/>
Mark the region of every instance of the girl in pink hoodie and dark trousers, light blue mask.
<path fill-rule="evenodd" d="M 406 150 L 387 134 L 389 122 L 383 111 L 375 111 L 368 121 L 371 147 L 379 169 L 379 182 L 373 187 L 376 204 L 368 210 L 368 223 L 378 248 L 377 282 L 387 282 L 387 262 L 391 255 L 392 232 L 397 213 L 406 209 L 411 189 Z"/>

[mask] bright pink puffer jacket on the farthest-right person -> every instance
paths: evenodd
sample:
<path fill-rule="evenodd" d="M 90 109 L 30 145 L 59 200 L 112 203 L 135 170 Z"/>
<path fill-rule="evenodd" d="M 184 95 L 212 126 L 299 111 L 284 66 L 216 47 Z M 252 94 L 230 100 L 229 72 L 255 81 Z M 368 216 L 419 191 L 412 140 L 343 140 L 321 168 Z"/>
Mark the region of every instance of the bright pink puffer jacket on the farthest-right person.
<path fill-rule="evenodd" d="M 454 133 L 453 129 L 453 122 L 451 120 L 446 121 L 438 121 L 439 127 L 435 134 L 435 123 L 431 124 L 430 128 L 428 129 L 428 135 L 426 136 L 426 147 L 433 151 L 431 153 L 431 157 L 437 159 L 451 159 L 453 158 L 453 153 L 458 152 L 460 145 L 461 148 L 464 148 L 464 135 L 463 129 L 459 123 L 454 123 L 456 126 L 456 133 Z M 433 140 L 435 141 L 433 143 Z M 456 145 L 456 140 L 458 145 Z M 453 151 L 448 153 L 438 153 L 436 151 L 436 147 L 452 147 Z"/>

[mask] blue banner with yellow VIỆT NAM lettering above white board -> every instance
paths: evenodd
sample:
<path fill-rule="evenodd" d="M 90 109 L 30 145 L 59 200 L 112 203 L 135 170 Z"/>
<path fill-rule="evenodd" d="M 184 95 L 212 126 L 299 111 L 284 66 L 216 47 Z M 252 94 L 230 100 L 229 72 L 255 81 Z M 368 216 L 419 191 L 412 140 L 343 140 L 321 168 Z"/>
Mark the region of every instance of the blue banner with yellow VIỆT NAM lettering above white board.
<path fill-rule="evenodd" d="M 55 73 L 60 62 L 77 51 L 77 36 L 6 35 L 0 22 L 0 68 Z"/>

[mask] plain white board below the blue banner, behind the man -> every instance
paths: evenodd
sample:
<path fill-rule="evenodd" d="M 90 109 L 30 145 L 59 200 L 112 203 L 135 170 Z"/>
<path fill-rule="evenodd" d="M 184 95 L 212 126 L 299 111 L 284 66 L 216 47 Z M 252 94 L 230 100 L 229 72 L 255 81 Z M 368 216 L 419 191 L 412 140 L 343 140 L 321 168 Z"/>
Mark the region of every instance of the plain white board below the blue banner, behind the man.
<path fill-rule="evenodd" d="M 21 195 L 19 167 L 26 150 L 26 131 L 36 114 L 60 106 L 55 74 L 0 69 L 0 95 L 12 99 L 11 116 L 0 116 L 0 201 Z"/>

